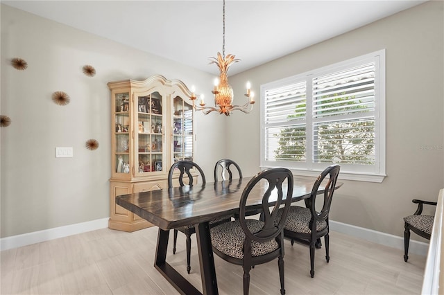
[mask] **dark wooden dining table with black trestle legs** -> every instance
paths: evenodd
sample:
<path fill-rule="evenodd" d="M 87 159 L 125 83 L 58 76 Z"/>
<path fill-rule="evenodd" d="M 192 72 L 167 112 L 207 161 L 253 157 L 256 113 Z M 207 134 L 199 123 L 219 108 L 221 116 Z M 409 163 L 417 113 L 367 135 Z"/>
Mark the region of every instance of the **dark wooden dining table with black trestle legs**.
<path fill-rule="evenodd" d="M 203 294 L 218 294 L 209 222 L 215 217 L 239 213 L 239 201 L 250 179 L 244 177 L 207 183 L 205 186 L 196 184 L 120 195 L 116 197 L 116 204 L 158 226 L 154 267 L 181 294 L 202 293 L 167 262 L 169 231 L 194 224 Z M 292 202 L 307 199 L 315 180 L 314 177 L 294 177 Z M 341 186 L 341 183 L 336 183 L 336 188 Z M 262 208 L 262 197 L 267 187 L 265 182 L 255 186 L 248 197 L 248 209 Z M 321 186 L 318 194 L 323 191 Z"/>

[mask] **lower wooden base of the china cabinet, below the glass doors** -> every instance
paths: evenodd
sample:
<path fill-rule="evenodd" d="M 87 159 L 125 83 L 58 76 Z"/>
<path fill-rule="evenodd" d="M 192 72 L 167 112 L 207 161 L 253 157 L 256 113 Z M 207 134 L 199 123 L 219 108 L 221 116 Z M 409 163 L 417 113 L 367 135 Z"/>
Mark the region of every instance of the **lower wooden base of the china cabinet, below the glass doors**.
<path fill-rule="evenodd" d="M 141 193 L 159 190 L 168 186 L 166 180 L 146 181 L 140 183 L 110 182 L 110 220 L 108 227 L 119 231 L 137 231 L 153 226 L 150 222 L 116 204 L 116 197 L 130 193 Z"/>

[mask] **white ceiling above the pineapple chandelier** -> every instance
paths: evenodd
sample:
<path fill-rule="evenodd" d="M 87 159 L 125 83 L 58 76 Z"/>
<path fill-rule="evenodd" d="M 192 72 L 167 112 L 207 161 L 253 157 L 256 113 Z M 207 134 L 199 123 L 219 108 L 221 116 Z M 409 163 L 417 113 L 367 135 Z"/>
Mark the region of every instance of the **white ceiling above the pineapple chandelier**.
<path fill-rule="evenodd" d="M 246 71 L 425 1 L 239 1 L 225 3 L 225 55 Z M 216 74 L 221 0 L 4 1 L 8 6 Z"/>

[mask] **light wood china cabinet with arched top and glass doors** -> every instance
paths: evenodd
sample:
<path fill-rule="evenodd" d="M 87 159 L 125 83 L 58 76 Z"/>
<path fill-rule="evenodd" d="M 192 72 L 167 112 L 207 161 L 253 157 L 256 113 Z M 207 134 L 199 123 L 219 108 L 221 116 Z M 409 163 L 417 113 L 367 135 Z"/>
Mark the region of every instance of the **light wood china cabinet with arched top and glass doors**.
<path fill-rule="evenodd" d="M 144 81 L 109 82 L 112 98 L 110 229 L 151 226 L 115 203 L 118 195 L 168 186 L 169 167 L 193 161 L 191 92 L 180 80 L 154 75 Z"/>

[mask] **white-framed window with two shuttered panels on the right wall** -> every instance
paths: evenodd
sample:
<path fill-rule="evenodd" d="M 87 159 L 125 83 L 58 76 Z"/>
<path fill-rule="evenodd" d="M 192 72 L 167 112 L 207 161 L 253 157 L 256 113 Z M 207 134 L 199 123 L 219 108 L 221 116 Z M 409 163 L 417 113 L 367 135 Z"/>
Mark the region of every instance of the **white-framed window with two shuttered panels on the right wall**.
<path fill-rule="evenodd" d="M 342 179 L 385 176 L 385 51 L 261 86 L 261 166 Z"/>

